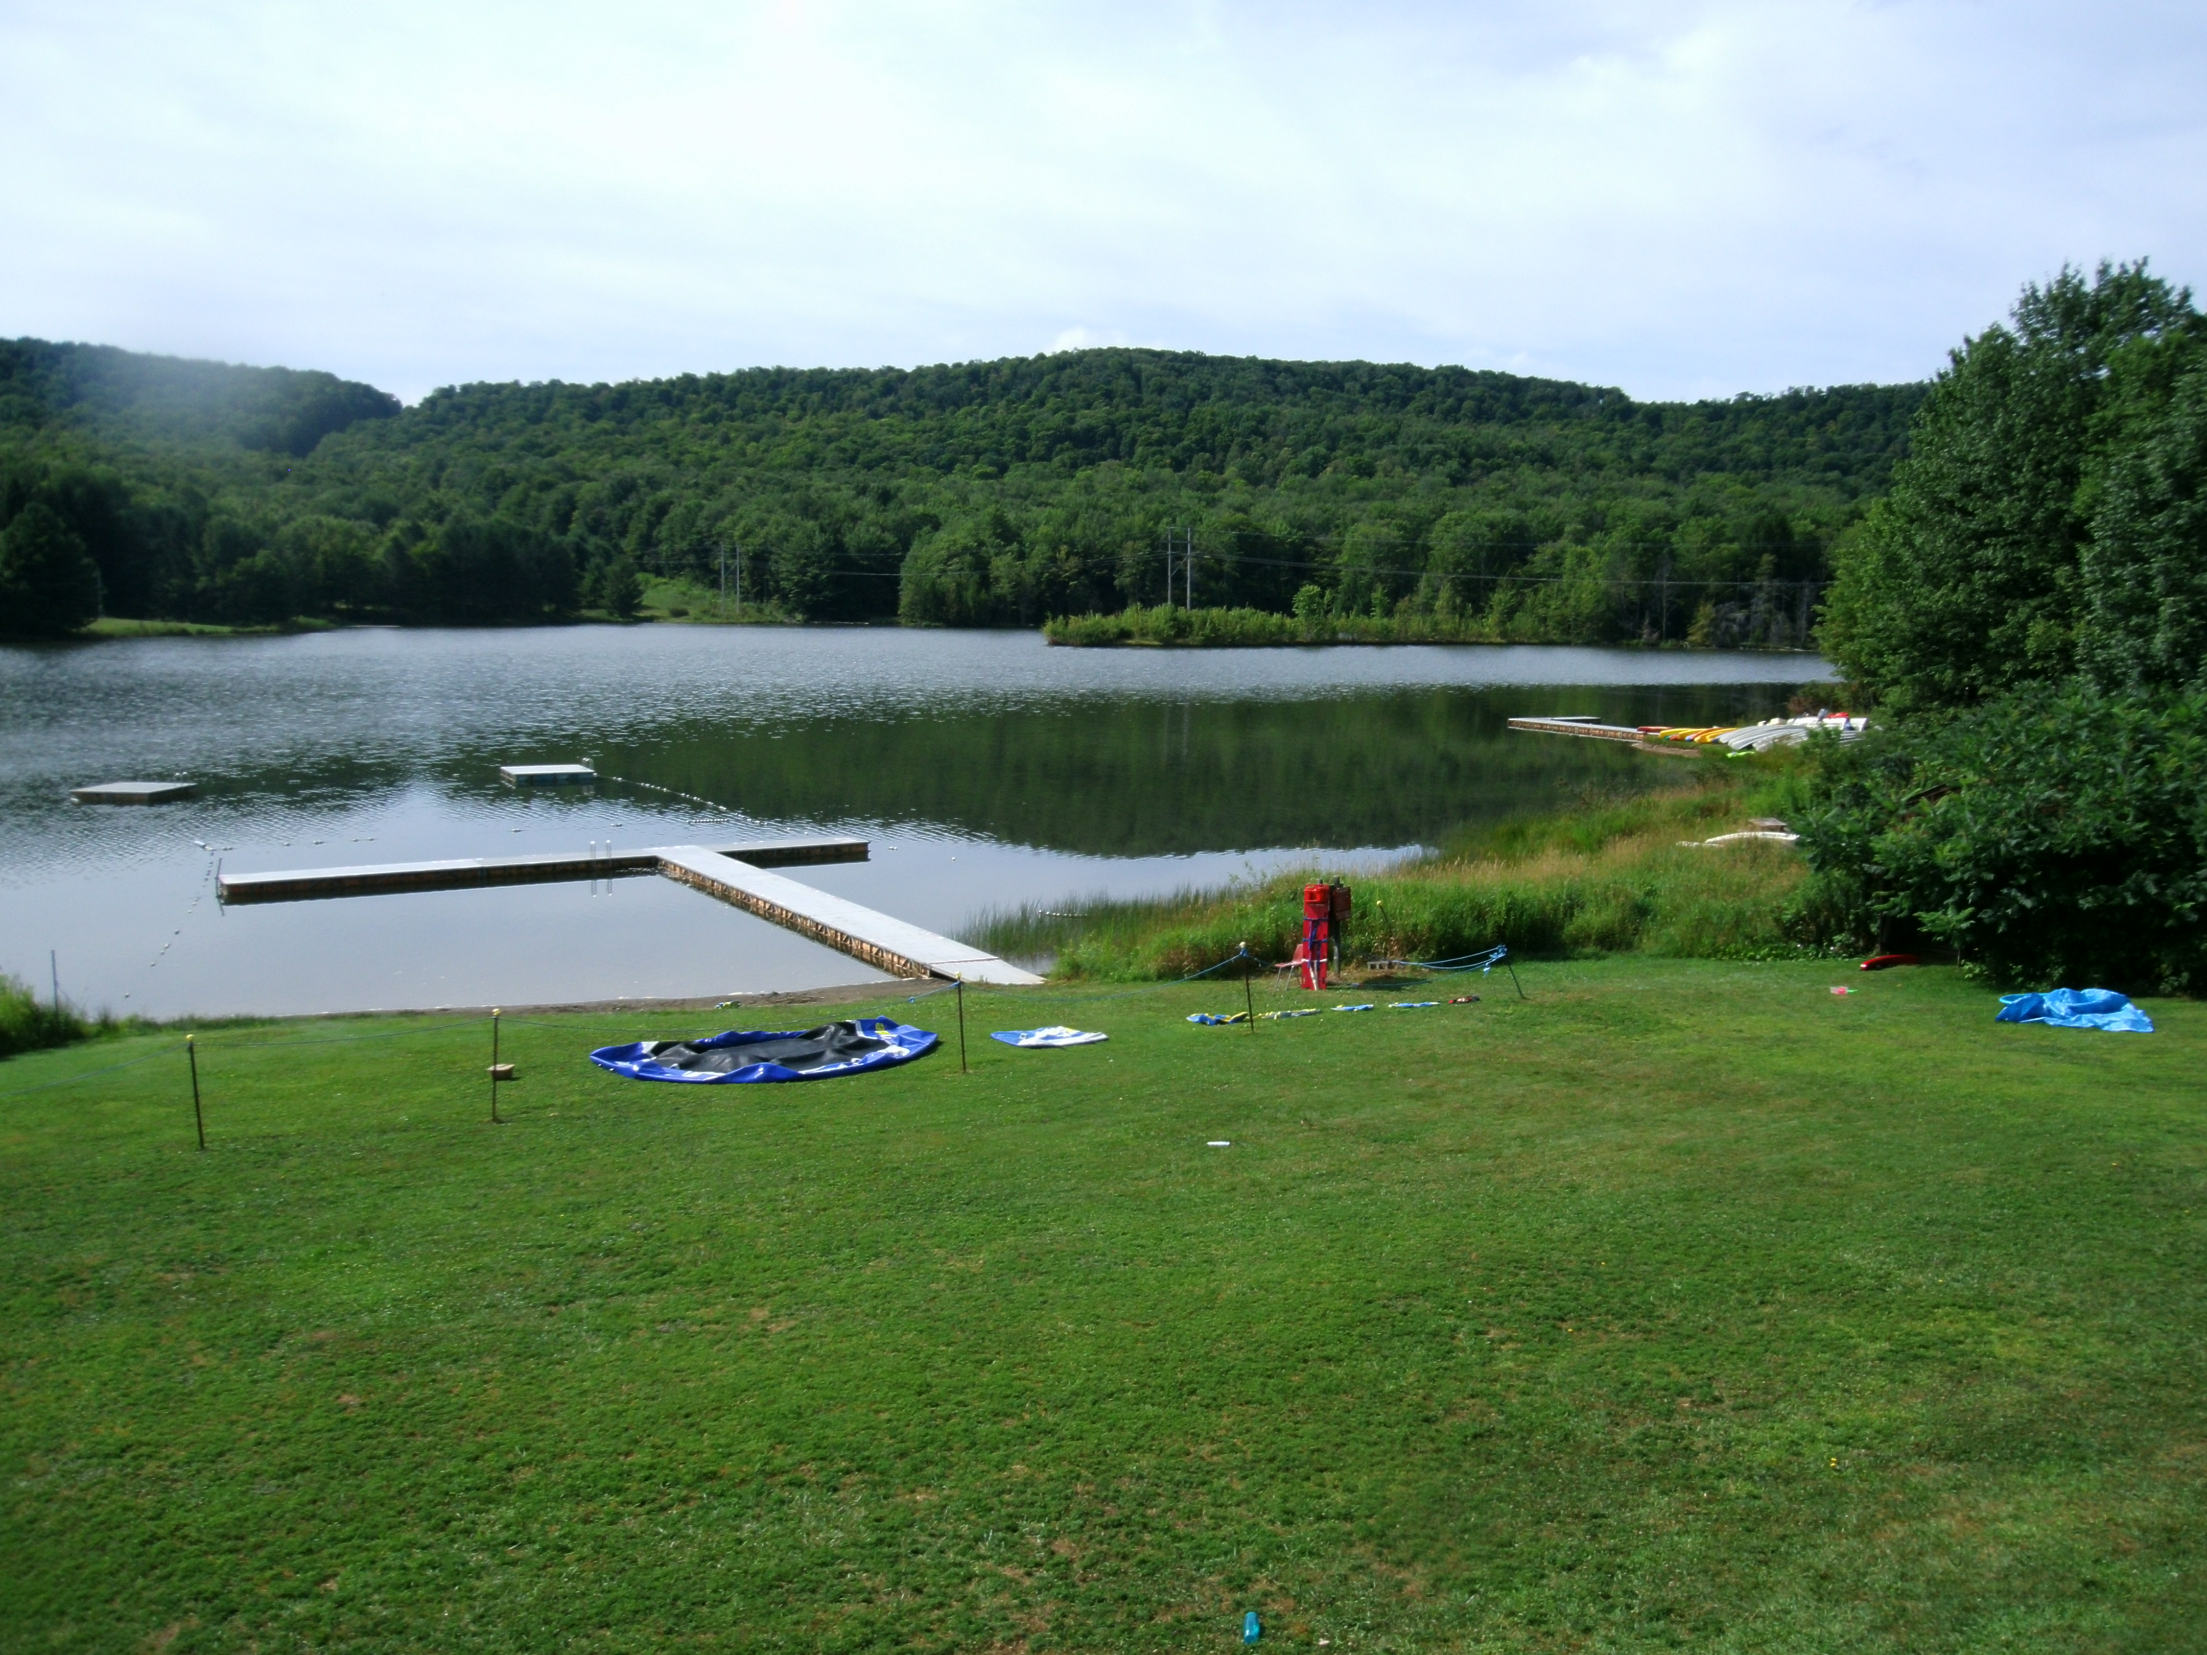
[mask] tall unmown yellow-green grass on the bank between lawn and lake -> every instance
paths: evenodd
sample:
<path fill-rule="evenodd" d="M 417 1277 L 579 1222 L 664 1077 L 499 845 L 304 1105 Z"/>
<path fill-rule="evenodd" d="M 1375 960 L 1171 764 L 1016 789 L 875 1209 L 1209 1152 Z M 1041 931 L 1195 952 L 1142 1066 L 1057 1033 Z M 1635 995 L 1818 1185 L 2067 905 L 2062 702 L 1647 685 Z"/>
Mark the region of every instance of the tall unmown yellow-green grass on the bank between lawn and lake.
<path fill-rule="evenodd" d="M 1677 759 L 1671 788 L 1589 799 L 1580 808 L 1465 834 L 1386 874 L 1351 878 L 1351 955 L 1441 960 L 1507 942 L 1516 955 L 1653 953 L 1671 958 L 1814 955 L 1808 869 L 1779 843 L 1693 845 L 1783 812 L 1794 766 L 1777 759 Z M 1059 978 L 1179 978 L 1243 942 L 1287 960 L 1302 929 L 1311 867 L 1223 891 L 1161 900 L 1059 900 L 984 914 L 973 942 L 1015 960 L 1051 960 Z"/>

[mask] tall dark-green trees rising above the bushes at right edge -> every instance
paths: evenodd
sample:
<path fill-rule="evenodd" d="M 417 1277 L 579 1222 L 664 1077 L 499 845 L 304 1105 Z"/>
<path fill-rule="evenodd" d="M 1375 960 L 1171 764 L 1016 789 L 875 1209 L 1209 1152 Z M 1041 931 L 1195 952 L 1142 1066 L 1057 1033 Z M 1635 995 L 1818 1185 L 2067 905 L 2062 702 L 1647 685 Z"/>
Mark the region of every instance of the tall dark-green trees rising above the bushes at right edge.
<path fill-rule="evenodd" d="M 1823 640 L 1854 682 L 1931 711 L 2196 673 L 2200 344 L 2145 265 L 2061 271 L 1966 340 L 1838 558 Z"/>

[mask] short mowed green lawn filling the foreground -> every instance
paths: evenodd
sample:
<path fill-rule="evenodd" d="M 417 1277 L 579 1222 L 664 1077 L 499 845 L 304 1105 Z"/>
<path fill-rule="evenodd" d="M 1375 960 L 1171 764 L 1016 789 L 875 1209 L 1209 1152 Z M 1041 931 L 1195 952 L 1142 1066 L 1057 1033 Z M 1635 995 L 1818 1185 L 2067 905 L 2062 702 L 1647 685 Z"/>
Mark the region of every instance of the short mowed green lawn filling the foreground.
<path fill-rule="evenodd" d="M 505 1125 L 481 1024 L 221 1028 L 205 1154 L 181 1053 L 0 1099 L 0 1646 L 2200 1646 L 2207 1008 L 1521 971 L 817 1086 L 508 1022 Z"/>

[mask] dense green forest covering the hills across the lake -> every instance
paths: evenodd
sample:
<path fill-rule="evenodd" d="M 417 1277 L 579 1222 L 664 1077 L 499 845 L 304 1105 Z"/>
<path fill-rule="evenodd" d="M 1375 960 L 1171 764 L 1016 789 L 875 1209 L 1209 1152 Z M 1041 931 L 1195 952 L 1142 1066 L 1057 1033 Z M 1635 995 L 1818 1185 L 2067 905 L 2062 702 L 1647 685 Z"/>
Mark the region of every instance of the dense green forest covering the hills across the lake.
<path fill-rule="evenodd" d="M 0 616 L 552 620 L 629 611 L 644 576 L 717 583 L 726 556 L 795 620 L 1039 624 L 1161 602 L 1179 530 L 1198 607 L 1796 644 L 1920 399 L 1646 404 L 1112 349 L 399 408 L 327 373 L 15 340 Z"/>

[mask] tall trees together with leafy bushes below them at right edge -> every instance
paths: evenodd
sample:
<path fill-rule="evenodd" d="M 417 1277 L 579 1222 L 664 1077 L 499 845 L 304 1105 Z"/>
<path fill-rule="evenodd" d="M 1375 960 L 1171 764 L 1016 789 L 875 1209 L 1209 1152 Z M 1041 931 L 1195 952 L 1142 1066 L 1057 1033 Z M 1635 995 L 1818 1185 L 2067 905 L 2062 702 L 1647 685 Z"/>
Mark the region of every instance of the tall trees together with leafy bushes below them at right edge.
<path fill-rule="evenodd" d="M 1823 640 L 1883 715 L 1803 823 L 1856 936 L 2207 989 L 2207 318 L 2143 265 L 1953 353 Z"/>

